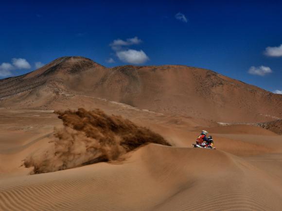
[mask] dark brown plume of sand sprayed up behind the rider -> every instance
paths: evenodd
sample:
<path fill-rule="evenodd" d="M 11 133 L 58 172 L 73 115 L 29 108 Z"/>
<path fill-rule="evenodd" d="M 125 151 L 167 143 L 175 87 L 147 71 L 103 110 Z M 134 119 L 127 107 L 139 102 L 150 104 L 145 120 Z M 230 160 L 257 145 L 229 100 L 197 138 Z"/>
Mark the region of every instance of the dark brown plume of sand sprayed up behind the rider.
<path fill-rule="evenodd" d="M 63 120 L 64 128 L 55 129 L 48 149 L 24 160 L 25 167 L 34 167 L 33 174 L 118 160 L 146 143 L 170 146 L 159 134 L 99 109 L 55 113 Z"/>

